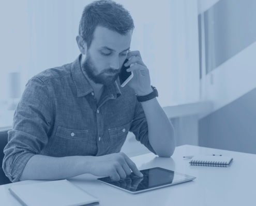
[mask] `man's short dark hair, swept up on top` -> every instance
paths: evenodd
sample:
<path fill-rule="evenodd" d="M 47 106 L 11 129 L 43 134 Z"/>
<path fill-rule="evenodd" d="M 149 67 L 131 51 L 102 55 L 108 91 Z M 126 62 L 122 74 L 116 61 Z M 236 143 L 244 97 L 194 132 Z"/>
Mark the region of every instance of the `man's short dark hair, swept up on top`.
<path fill-rule="evenodd" d="M 87 49 L 93 41 L 97 26 L 106 27 L 125 36 L 134 29 L 129 11 L 123 5 L 111 0 L 99 0 L 85 6 L 79 24 L 79 35 L 87 44 Z"/>

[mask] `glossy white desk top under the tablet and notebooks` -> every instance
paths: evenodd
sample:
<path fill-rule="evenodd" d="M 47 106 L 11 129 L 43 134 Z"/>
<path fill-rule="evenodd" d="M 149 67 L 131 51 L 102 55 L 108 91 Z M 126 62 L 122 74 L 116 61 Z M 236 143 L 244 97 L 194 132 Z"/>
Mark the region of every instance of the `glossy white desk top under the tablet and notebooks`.
<path fill-rule="evenodd" d="M 234 158 L 230 167 L 190 166 L 188 155 L 220 154 Z M 100 205 L 256 205 L 256 155 L 227 150 L 183 145 L 176 147 L 172 158 L 159 158 L 153 153 L 131 158 L 139 169 L 163 167 L 197 177 L 195 180 L 157 190 L 130 194 L 103 184 L 90 174 L 68 179 L 100 199 Z M 44 181 L 27 180 L 0 186 L 0 205 L 19 205 L 8 191 L 13 184 Z"/>

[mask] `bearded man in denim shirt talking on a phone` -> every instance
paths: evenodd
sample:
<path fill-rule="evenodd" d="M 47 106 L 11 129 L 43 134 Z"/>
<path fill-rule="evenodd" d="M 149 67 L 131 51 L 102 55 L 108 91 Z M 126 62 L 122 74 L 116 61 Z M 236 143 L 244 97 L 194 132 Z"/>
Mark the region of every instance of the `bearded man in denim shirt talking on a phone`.
<path fill-rule="evenodd" d="M 3 169 L 12 181 L 57 180 L 91 173 L 118 181 L 142 174 L 122 152 L 128 131 L 150 151 L 170 157 L 173 127 L 150 86 L 138 51 L 129 52 L 134 25 L 129 12 L 112 1 L 85 7 L 70 64 L 34 76 L 8 132 Z M 125 59 L 134 77 L 120 87 Z M 147 96 L 140 102 L 136 95 Z M 153 95 L 153 96 L 152 96 Z"/>

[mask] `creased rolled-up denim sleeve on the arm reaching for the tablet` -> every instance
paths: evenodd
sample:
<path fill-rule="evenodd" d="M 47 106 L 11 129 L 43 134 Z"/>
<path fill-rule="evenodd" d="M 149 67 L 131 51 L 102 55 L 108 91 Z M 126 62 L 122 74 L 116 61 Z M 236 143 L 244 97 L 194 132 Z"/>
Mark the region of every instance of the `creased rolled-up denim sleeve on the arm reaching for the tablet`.
<path fill-rule="evenodd" d="M 17 182 L 27 161 L 39 155 L 48 143 L 52 123 L 50 92 L 38 77 L 30 79 L 14 112 L 12 130 L 4 149 L 3 170 L 12 182 Z"/>

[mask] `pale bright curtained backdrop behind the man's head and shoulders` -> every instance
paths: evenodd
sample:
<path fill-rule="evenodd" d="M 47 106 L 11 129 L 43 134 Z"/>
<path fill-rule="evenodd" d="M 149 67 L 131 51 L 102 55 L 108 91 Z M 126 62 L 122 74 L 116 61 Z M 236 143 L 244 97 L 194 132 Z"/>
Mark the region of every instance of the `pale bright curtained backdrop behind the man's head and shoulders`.
<path fill-rule="evenodd" d="M 135 25 L 131 50 L 140 51 L 151 83 L 158 89 L 160 105 L 198 101 L 197 0 L 115 1 L 131 13 Z M 21 73 L 23 91 L 34 75 L 77 58 L 79 21 L 85 5 L 91 2 L 0 2 L 0 107 L 8 99 L 9 72 Z"/>

